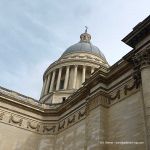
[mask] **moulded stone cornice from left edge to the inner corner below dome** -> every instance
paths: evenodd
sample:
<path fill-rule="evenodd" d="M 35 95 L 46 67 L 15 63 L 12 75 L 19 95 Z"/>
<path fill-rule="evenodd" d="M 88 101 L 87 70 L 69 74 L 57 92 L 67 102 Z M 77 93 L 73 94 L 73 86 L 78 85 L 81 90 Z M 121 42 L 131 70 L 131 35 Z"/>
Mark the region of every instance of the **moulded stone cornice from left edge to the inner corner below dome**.
<path fill-rule="evenodd" d="M 30 97 L 2 87 L 0 88 L 0 101 L 37 114 L 47 112 L 55 114 L 58 108 L 58 105 L 42 104 Z"/>

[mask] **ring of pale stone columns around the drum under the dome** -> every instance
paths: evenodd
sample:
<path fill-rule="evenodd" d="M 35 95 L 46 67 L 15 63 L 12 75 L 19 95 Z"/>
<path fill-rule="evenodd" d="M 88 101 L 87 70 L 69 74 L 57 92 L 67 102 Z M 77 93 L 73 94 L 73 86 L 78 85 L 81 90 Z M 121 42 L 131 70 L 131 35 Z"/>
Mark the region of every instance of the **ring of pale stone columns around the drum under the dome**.
<path fill-rule="evenodd" d="M 95 69 L 85 65 L 68 65 L 57 68 L 45 77 L 41 96 L 53 91 L 78 89 Z"/>

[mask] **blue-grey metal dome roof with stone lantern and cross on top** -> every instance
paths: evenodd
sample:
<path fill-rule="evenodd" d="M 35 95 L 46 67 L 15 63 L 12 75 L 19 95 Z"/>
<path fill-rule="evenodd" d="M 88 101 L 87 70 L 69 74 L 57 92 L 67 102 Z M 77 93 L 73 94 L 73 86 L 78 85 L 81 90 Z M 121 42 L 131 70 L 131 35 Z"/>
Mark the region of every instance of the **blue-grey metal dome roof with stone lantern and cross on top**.
<path fill-rule="evenodd" d="M 99 48 L 95 45 L 93 45 L 91 42 L 91 35 L 87 33 L 87 29 L 85 30 L 85 33 L 80 35 L 80 42 L 70 46 L 67 48 L 67 50 L 62 54 L 62 56 L 71 54 L 71 53 L 91 53 L 94 55 L 97 55 L 104 61 L 106 61 L 105 56 L 103 53 L 99 50 Z"/>

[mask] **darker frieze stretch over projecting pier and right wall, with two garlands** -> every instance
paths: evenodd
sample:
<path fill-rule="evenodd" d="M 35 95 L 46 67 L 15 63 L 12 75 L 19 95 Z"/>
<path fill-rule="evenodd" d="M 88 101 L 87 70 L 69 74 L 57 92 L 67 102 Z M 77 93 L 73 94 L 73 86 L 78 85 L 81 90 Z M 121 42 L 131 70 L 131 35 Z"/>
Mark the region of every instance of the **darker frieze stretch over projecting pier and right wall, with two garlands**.
<path fill-rule="evenodd" d="M 97 92 L 97 96 L 89 97 L 87 99 L 86 112 L 89 114 L 92 109 L 95 109 L 99 105 L 104 107 L 111 107 L 112 104 L 123 100 L 125 97 L 133 94 L 138 90 L 139 88 L 137 87 L 135 80 L 132 78 L 132 76 L 130 76 L 128 81 L 118 85 L 118 87 L 111 92 L 99 91 Z"/>

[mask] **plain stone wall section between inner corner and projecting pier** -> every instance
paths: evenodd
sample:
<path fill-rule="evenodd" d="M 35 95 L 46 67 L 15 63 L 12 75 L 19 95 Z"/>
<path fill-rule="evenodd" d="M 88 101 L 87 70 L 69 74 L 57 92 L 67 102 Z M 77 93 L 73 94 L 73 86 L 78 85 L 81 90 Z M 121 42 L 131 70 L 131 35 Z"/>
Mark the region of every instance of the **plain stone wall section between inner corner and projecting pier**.
<path fill-rule="evenodd" d="M 85 120 L 56 135 L 54 150 L 84 150 Z"/>

